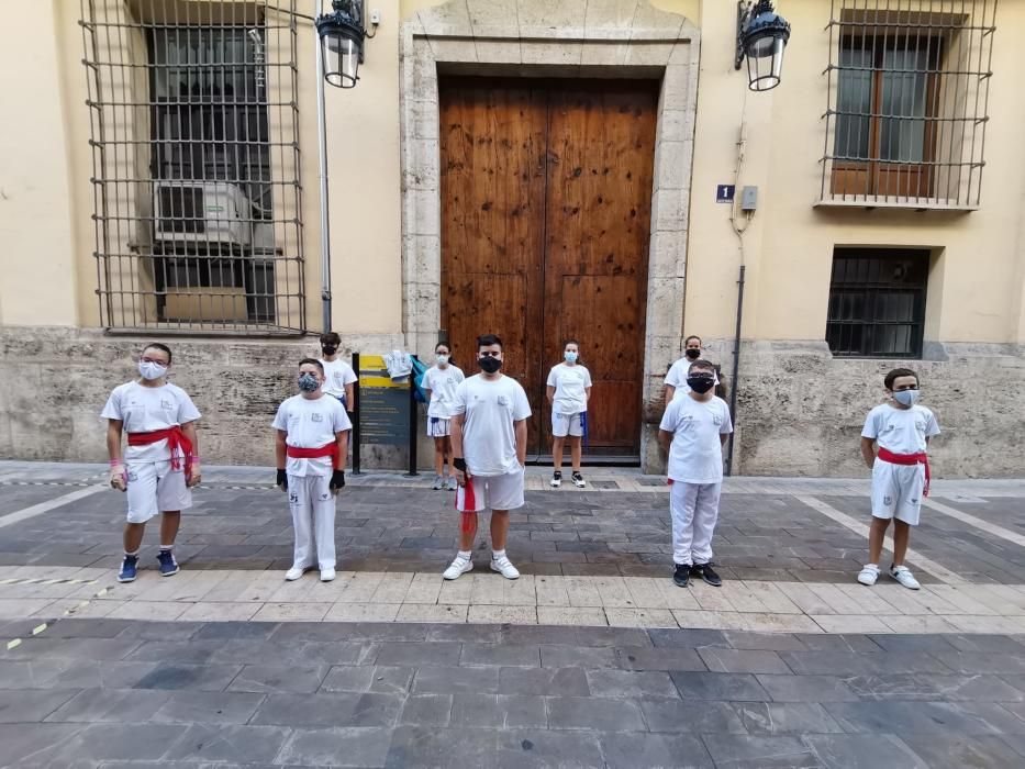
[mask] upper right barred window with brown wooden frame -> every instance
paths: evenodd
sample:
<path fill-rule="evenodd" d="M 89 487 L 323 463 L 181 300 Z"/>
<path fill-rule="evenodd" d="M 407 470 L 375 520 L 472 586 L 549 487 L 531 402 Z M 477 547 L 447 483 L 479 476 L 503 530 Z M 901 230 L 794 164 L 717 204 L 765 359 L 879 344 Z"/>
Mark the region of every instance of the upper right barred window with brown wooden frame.
<path fill-rule="evenodd" d="M 832 0 L 823 204 L 978 208 L 996 0 Z"/>

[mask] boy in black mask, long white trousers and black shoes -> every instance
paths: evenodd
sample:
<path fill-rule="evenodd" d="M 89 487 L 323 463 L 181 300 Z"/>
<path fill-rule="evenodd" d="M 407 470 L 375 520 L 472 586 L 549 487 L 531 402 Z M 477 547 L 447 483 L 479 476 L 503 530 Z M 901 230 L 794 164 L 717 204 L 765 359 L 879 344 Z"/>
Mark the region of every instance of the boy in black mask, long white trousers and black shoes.
<path fill-rule="evenodd" d="M 712 569 L 712 535 L 718 520 L 723 445 L 733 432 L 729 406 L 712 393 L 715 367 L 698 359 L 687 374 L 687 393 L 669 402 L 658 443 L 669 454 L 669 512 L 672 516 L 672 581 L 687 587 L 701 577 L 723 580 Z"/>

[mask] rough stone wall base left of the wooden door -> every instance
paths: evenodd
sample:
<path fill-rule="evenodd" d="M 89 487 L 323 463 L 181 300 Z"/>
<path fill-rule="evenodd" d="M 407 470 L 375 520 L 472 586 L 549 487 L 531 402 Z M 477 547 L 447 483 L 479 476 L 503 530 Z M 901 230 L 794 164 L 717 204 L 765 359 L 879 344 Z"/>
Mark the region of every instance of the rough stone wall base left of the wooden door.
<path fill-rule="evenodd" d="M 0 457 L 105 461 L 110 391 L 137 376 L 147 342 L 174 353 L 170 380 L 203 414 L 199 439 L 209 465 L 275 464 L 270 422 L 297 392 L 299 360 L 316 357 L 316 335 L 292 339 L 110 336 L 53 326 L 0 328 Z M 401 334 L 343 335 L 343 357 L 402 347 Z M 401 457 L 399 456 L 401 454 Z M 405 450 L 364 448 L 363 466 L 404 467 Z M 379 462 L 383 462 L 379 464 Z"/>

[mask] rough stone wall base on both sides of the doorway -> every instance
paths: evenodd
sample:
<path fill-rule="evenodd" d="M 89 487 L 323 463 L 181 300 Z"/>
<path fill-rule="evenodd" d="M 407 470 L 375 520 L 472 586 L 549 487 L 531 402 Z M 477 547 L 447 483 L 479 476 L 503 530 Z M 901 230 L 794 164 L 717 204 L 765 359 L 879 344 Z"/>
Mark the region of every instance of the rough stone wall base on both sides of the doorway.
<path fill-rule="evenodd" d="M 135 374 L 135 358 L 160 337 L 108 336 L 94 330 L 0 328 L 0 458 L 104 461 L 99 414 L 111 389 Z M 164 339 L 175 353 L 172 381 L 203 419 L 203 461 L 272 465 L 270 421 L 294 393 L 299 359 L 319 352 L 315 336 L 296 339 Z M 709 339 L 708 357 L 732 388 L 732 341 Z M 343 336 L 343 355 L 402 347 L 401 335 Z M 1025 348 L 931 344 L 928 360 L 845 360 L 817 342 L 743 345 L 737 397 L 735 473 L 858 477 L 865 415 L 883 400 L 882 379 L 899 365 L 921 376 L 923 404 L 939 420 L 933 468 L 944 478 L 1025 477 Z M 656 388 L 651 388 L 655 390 Z M 642 460 L 664 472 L 656 435 L 661 402 L 645 404 Z M 421 427 L 423 417 L 420 420 Z M 417 436 L 419 467 L 433 444 Z M 364 446 L 365 469 L 405 469 L 405 449 Z"/>

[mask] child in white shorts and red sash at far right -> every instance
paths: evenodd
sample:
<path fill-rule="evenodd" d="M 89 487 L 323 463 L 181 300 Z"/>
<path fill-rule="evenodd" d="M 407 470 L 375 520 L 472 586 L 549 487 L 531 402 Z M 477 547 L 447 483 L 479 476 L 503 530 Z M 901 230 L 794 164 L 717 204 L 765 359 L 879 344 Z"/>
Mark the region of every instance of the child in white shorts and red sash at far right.
<path fill-rule="evenodd" d="M 872 470 L 872 526 L 868 538 L 869 562 L 858 573 L 861 584 L 876 584 L 879 557 L 890 521 L 893 521 L 893 564 L 890 576 L 917 590 L 918 580 L 904 566 L 911 527 L 918 525 L 922 498 L 928 495 L 929 438 L 939 434 L 933 412 L 916 405 L 918 376 L 895 368 L 883 380 L 889 400 L 868 413 L 861 431 L 861 457 Z M 872 444 L 879 445 L 879 454 Z"/>

